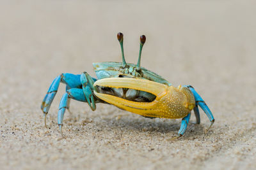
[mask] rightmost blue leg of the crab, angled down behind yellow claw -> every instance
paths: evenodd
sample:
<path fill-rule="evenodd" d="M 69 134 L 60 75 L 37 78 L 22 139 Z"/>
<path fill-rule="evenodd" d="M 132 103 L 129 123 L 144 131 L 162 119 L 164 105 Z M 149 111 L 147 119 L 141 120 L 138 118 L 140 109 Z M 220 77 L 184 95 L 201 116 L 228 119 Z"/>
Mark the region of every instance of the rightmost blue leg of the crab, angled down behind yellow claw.
<path fill-rule="evenodd" d="M 212 124 L 214 123 L 214 117 L 212 115 L 212 112 L 208 108 L 207 104 L 205 104 L 205 101 L 202 99 L 202 97 L 199 96 L 199 94 L 196 92 L 196 90 L 191 85 L 188 85 L 186 87 L 188 87 L 191 90 L 191 92 L 193 92 L 193 94 L 195 96 L 196 105 L 199 105 L 200 108 L 202 108 L 204 113 L 207 115 L 207 117 L 211 121 L 211 125 L 205 130 L 205 133 L 207 133 L 209 131 L 209 129 L 212 127 Z M 198 113 L 199 113 L 199 111 L 198 111 Z"/>

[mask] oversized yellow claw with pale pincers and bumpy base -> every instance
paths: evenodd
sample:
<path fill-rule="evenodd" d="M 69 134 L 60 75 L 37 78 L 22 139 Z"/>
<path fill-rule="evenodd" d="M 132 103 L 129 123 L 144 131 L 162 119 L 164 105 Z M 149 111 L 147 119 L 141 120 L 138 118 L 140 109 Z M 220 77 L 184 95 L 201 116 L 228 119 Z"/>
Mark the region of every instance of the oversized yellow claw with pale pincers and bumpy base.
<path fill-rule="evenodd" d="M 183 118 L 195 107 L 195 97 L 186 87 L 167 86 L 140 78 L 104 78 L 95 81 L 94 87 L 127 88 L 141 90 L 156 96 L 149 103 L 129 101 L 94 90 L 95 96 L 123 110 L 145 117 Z"/>

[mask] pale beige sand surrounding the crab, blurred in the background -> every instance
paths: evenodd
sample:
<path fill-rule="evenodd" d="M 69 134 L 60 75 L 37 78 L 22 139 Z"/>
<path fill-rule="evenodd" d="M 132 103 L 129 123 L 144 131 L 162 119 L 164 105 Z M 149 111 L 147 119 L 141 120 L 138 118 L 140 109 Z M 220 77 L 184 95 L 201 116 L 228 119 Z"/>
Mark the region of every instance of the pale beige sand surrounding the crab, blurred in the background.
<path fill-rule="evenodd" d="M 255 1 L 1 1 L 1 169 L 255 169 Z M 211 108 L 201 124 L 177 135 L 179 120 L 149 119 L 71 101 L 62 138 L 57 113 L 40 110 L 61 73 L 95 76 L 92 62 L 127 62 L 173 85 L 193 85 Z"/>

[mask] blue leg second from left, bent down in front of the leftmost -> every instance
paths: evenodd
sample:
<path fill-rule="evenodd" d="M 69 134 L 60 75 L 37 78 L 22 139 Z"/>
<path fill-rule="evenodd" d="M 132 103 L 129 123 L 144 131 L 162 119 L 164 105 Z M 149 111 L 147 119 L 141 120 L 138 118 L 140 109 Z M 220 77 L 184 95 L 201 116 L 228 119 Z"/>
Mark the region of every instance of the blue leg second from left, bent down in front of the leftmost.
<path fill-rule="evenodd" d="M 64 117 L 65 110 L 67 108 L 69 99 L 75 99 L 76 101 L 87 102 L 86 98 L 84 97 L 83 89 L 69 89 L 65 94 L 63 94 L 60 101 L 59 111 L 58 111 L 58 125 L 60 128 L 60 131 L 63 125 L 62 124 L 63 117 Z M 62 134 L 62 131 L 61 131 L 61 134 Z"/>

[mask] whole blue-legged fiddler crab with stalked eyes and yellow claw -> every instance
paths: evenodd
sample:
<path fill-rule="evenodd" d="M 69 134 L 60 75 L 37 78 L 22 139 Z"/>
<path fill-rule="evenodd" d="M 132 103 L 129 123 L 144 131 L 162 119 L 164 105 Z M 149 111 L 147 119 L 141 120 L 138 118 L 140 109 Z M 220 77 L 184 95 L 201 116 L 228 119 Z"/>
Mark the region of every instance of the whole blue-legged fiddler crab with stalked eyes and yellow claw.
<path fill-rule="evenodd" d="M 172 139 L 180 138 L 186 131 L 191 110 L 194 110 L 196 124 L 200 124 L 198 110 L 200 106 L 211 121 L 211 125 L 205 130 L 205 133 L 208 132 L 214 123 L 214 117 L 202 97 L 191 85 L 173 87 L 158 74 L 140 66 L 141 50 L 146 37 L 144 35 L 140 37 L 138 64 L 125 62 L 124 36 L 121 32 L 117 34 L 117 39 L 122 50 L 122 62 L 93 63 L 93 70 L 98 79 L 83 72 L 82 74 L 63 73 L 52 81 L 41 106 L 45 127 L 46 115 L 61 82 L 67 85 L 58 111 L 61 134 L 64 113 L 69 108 L 70 99 L 88 103 L 93 111 L 96 109 L 96 103 L 108 103 L 143 117 L 182 118 L 178 136 Z"/>

